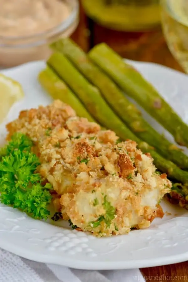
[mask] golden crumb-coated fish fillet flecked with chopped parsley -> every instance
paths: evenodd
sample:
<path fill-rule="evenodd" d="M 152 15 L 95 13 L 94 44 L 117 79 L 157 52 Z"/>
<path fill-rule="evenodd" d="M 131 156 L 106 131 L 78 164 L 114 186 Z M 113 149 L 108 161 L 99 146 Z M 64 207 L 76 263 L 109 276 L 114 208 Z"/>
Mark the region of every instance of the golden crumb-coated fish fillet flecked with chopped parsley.
<path fill-rule="evenodd" d="M 134 141 L 118 142 L 114 132 L 78 118 L 59 100 L 20 112 L 7 129 L 8 139 L 19 131 L 33 140 L 39 172 L 58 194 L 57 209 L 79 229 L 125 234 L 163 215 L 159 202 L 171 182 Z"/>

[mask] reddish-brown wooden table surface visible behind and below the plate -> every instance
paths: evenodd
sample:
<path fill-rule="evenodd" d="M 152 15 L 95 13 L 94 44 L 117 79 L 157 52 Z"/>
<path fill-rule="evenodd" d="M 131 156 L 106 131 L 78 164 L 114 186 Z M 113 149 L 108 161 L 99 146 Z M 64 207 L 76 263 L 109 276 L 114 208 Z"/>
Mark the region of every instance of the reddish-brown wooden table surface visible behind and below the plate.
<path fill-rule="evenodd" d="M 145 33 L 118 32 L 93 23 L 80 7 L 80 23 L 71 36 L 84 51 L 106 42 L 127 59 L 154 62 L 182 71 L 170 54 L 160 28 Z M 188 281 L 188 262 L 141 269 L 146 281 Z M 135 280 L 136 281 L 136 280 Z"/>

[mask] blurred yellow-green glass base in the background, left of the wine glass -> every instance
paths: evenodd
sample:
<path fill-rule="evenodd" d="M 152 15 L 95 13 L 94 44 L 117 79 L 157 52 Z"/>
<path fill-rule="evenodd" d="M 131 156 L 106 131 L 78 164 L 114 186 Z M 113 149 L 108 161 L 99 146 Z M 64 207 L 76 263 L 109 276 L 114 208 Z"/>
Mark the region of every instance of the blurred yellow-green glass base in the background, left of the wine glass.
<path fill-rule="evenodd" d="M 82 0 L 82 4 L 90 18 L 111 29 L 145 31 L 160 24 L 159 0 Z"/>

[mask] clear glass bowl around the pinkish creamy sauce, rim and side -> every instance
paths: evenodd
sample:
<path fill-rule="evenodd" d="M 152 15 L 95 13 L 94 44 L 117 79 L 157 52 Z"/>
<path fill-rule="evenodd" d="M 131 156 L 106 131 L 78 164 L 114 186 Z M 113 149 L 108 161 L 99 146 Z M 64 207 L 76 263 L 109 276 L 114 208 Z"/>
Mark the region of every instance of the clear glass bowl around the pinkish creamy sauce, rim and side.
<path fill-rule="evenodd" d="M 31 33 L 31 35 L 29 35 L 31 30 L 28 30 L 26 36 L 5 36 L 5 34 L 2 36 L 0 34 L 0 67 L 12 67 L 29 61 L 45 60 L 51 54 L 50 43 L 62 37 L 69 37 L 74 32 L 79 22 L 78 0 L 60 1 L 67 6 L 69 13 L 55 27 L 44 32 Z M 30 25 L 28 29 L 31 29 Z M 14 34 L 17 34 L 16 29 Z"/>

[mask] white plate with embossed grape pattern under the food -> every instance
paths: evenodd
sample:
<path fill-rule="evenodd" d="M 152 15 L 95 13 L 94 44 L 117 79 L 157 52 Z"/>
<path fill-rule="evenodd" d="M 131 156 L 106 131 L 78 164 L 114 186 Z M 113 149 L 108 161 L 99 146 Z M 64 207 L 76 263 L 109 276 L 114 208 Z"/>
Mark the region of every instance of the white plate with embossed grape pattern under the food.
<path fill-rule="evenodd" d="M 188 123 L 188 76 L 166 67 L 131 62 L 151 81 L 165 99 Z M 32 62 L 2 71 L 18 80 L 25 91 L 23 101 L 14 105 L 0 127 L 1 141 L 5 123 L 18 117 L 23 109 L 47 105 L 51 98 L 41 89 L 37 74 L 44 62 Z M 163 132 L 144 112 L 152 125 Z M 170 140 L 170 134 L 165 132 Z M 0 247 L 34 261 L 61 264 L 79 269 L 131 269 L 172 264 L 188 259 L 188 212 L 169 203 L 162 203 L 163 219 L 155 219 L 146 230 L 128 235 L 94 238 L 91 234 L 71 230 L 67 223 L 55 226 L 51 220 L 41 222 L 9 206 L 0 204 Z"/>

